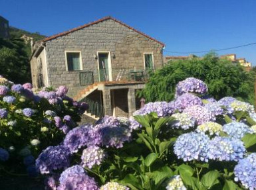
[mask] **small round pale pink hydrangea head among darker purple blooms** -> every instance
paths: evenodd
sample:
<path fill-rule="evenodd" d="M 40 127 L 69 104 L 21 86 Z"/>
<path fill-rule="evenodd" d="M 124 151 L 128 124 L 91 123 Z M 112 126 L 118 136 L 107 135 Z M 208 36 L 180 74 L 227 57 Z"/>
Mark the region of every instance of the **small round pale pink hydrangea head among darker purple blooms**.
<path fill-rule="evenodd" d="M 106 154 L 98 146 L 88 146 L 88 148 L 82 151 L 82 163 L 83 167 L 92 168 L 94 165 L 100 165 Z"/>

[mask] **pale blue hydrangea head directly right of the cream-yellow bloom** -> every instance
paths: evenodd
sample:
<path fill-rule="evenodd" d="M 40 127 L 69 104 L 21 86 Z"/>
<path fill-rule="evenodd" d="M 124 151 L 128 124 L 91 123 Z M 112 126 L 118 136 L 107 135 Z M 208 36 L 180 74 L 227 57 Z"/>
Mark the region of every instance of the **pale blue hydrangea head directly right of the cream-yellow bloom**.
<path fill-rule="evenodd" d="M 253 133 L 247 124 L 236 121 L 224 124 L 223 131 L 226 132 L 231 138 L 243 138 L 245 134 Z"/>

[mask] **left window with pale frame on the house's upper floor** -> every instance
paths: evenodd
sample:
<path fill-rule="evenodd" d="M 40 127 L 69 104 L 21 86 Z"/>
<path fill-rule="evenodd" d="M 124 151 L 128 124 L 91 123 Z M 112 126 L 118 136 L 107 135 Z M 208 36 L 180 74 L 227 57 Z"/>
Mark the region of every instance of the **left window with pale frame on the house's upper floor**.
<path fill-rule="evenodd" d="M 68 71 L 80 71 L 81 52 L 66 52 L 66 64 Z"/>

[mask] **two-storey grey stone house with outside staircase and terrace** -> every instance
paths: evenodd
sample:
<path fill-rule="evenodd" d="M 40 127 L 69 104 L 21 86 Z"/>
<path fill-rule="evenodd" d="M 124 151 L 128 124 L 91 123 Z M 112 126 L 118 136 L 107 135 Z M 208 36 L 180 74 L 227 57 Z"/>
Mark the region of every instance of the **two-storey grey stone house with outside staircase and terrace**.
<path fill-rule="evenodd" d="M 33 86 L 66 85 L 90 113 L 129 116 L 148 72 L 163 66 L 164 44 L 112 17 L 84 24 L 33 45 Z M 90 112 L 90 113 L 89 113 Z"/>

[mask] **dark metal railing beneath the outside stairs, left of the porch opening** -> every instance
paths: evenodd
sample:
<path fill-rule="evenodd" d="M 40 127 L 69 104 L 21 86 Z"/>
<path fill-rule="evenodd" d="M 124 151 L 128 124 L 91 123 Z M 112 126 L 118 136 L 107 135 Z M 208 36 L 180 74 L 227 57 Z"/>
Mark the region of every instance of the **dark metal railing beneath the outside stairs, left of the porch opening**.
<path fill-rule="evenodd" d="M 88 104 L 87 112 L 91 115 L 95 115 L 95 117 L 104 117 L 104 109 L 103 105 L 98 103 L 97 101 L 93 101 L 92 99 L 89 99 L 88 97 L 84 97 L 83 99 L 80 99 L 79 102 L 86 102 Z"/>

